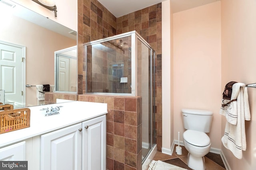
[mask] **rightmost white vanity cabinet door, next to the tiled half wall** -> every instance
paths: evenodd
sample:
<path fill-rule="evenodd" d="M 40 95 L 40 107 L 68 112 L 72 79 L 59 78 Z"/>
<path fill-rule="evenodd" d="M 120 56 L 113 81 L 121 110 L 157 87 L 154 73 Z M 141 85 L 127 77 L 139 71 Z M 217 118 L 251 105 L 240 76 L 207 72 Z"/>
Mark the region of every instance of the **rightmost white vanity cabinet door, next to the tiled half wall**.
<path fill-rule="evenodd" d="M 106 170 L 106 115 L 82 123 L 82 170 Z"/>

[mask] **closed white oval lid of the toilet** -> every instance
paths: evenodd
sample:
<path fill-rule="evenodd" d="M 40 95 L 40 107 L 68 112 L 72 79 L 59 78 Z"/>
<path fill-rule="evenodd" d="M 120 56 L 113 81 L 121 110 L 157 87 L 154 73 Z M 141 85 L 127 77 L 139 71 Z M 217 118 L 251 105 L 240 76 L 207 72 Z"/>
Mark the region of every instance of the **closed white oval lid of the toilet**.
<path fill-rule="evenodd" d="M 186 142 L 198 147 L 205 147 L 210 145 L 211 143 L 208 135 L 200 131 L 186 130 L 183 133 L 183 138 Z"/>

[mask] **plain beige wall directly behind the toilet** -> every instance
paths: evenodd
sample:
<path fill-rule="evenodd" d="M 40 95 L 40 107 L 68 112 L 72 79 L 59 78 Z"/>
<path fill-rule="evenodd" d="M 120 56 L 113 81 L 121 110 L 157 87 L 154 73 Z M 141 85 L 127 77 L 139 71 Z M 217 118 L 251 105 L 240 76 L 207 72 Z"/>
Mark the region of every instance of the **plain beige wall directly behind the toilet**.
<path fill-rule="evenodd" d="M 173 18 L 174 139 L 178 131 L 185 131 L 182 108 L 206 109 L 213 112 L 211 147 L 220 149 L 220 1 L 175 13 Z"/>

